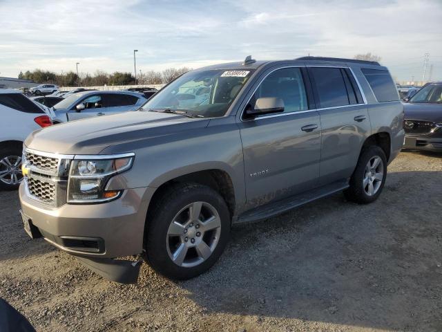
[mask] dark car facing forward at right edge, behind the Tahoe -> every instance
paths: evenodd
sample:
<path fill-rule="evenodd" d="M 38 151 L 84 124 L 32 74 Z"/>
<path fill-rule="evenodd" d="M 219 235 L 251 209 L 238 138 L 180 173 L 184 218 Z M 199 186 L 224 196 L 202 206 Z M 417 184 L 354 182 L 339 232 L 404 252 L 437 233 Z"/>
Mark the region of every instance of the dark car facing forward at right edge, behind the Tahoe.
<path fill-rule="evenodd" d="M 404 149 L 442 152 L 442 82 L 425 84 L 404 110 Z"/>

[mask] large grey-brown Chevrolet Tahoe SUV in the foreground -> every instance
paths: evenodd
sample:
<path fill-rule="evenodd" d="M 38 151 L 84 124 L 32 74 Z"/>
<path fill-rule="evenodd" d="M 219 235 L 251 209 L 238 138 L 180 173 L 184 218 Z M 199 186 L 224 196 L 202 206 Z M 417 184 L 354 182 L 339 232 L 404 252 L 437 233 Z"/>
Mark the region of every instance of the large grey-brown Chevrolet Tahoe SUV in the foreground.
<path fill-rule="evenodd" d="M 162 275 L 188 279 L 217 261 L 231 224 L 340 191 L 376 201 L 402 125 L 377 62 L 247 57 L 200 68 L 142 111 L 32 133 L 23 225 L 117 282 L 135 282 L 140 261 L 115 257 L 140 253 Z"/>

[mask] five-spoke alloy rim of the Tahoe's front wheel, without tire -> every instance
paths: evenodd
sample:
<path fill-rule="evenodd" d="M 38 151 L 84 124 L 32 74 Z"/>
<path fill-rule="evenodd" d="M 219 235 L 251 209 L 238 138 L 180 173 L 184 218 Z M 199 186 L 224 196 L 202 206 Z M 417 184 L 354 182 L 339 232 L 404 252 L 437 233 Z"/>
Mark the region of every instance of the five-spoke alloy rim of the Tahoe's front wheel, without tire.
<path fill-rule="evenodd" d="M 167 252 L 178 266 L 198 266 L 212 255 L 220 234 L 218 211 L 209 203 L 193 202 L 182 208 L 169 225 Z"/>

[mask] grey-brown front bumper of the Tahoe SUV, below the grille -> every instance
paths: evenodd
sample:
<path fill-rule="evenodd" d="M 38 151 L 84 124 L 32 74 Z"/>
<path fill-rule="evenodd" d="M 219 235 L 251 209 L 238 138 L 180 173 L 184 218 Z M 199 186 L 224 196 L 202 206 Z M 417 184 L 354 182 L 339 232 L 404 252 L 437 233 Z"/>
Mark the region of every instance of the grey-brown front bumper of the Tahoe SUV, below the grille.
<path fill-rule="evenodd" d="M 71 205 L 59 208 L 28 196 L 25 183 L 19 188 L 21 210 L 47 241 L 73 255 L 115 258 L 142 252 L 144 223 L 153 188 L 125 190 L 122 197 L 102 204 Z M 69 246 L 66 239 L 100 239 L 99 250 L 91 252 Z"/>

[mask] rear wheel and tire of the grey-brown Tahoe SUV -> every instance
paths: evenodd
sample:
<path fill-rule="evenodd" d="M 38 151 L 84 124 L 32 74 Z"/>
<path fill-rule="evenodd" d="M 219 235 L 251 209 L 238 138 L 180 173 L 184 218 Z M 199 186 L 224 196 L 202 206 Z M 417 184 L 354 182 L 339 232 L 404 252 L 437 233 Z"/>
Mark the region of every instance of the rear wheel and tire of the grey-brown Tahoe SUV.
<path fill-rule="evenodd" d="M 381 194 L 387 178 L 387 158 L 381 147 L 372 145 L 363 149 L 350 178 L 345 198 L 360 204 L 372 203 Z"/>

